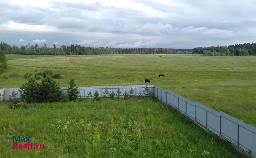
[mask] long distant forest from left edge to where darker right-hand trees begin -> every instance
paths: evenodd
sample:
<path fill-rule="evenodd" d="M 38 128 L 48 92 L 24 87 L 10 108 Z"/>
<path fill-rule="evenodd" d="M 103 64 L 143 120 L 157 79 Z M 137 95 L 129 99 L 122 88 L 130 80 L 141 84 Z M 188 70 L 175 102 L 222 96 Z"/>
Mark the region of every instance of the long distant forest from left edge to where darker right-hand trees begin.
<path fill-rule="evenodd" d="M 70 46 L 62 45 L 57 48 L 53 44 L 52 48 L 47 47 L 44 43 L 42 47 L 38 44 L 17 47 L 10 46 L 7 43 L 0 43 L 0 49 L 6 54 L 30 54 L 30 55 L 90 55 L 90 54 L 176 54 L 178 49 L 172 48 L 106 48 L 106 47 L 90 47 L 72 44 Z"/>

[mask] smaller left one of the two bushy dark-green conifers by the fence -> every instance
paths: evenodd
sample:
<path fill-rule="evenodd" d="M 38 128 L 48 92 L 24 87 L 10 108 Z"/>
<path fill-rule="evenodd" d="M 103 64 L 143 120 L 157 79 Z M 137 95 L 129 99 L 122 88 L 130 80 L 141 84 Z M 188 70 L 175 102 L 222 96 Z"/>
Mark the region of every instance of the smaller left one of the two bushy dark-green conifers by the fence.
<path fill-rule="evenodd" d="M 36 79 L 33 76 L 28 78 L 28 82 L 20 87 L 21 101 L 25 102 L 37 102 L 38 101 L 38 89 L 39 84 L 36 83 Z"/>

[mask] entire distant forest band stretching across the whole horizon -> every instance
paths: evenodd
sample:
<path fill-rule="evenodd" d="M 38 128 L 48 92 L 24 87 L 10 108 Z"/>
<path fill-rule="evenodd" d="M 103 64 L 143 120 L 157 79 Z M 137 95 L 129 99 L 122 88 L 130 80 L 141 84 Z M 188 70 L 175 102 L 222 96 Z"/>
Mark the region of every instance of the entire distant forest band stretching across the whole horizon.
<path fill-rule="evenodd" d="M 11 46 L 1 42 L 0 49 L 6 54 L 31 54 L 31 55 L 84 55 L 84 54 L 202 54 L 202 56 L 248 56 L 256 55 L 256 43 L 244 43 L 227 46 L 195 47 L 194 49 L 172 49 L 172 48 L 105 48 L 90 47 L 72 44 L 62 45 L 57 48 L 47 47 L 44 43 L 42 47 L 38 44 L 25 46 Z"/>

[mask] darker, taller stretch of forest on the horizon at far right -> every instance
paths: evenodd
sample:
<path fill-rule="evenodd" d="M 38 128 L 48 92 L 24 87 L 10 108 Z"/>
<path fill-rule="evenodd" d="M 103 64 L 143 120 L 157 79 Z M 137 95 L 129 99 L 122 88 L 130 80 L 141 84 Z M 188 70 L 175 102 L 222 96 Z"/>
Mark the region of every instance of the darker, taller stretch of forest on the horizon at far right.
<path fill-rule="evenodd" d="M 193 54 L 204 56 L 255 56 L 256 43 L 244 43 L 227 46 L 195 47 Z"/>

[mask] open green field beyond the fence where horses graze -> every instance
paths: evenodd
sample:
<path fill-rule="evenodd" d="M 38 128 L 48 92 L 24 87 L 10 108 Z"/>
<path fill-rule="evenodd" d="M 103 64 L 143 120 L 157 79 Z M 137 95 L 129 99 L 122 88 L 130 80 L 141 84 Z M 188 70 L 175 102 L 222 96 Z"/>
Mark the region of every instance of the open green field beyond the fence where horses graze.
<path fill-rule="evenodd" d="M 59 72 L 60 86 L 74 78 L 78 86 L 151 84 L 194 102 L 224 111 L 256 126 L 256 56 L 197 55 L 6 55 L 8 71 L 0 88 L 20 87 L 25 72 Z M 165 77 L 159 78 L 159 74 Z M 8 77 L 8 79 L 6 79 Z"/>

